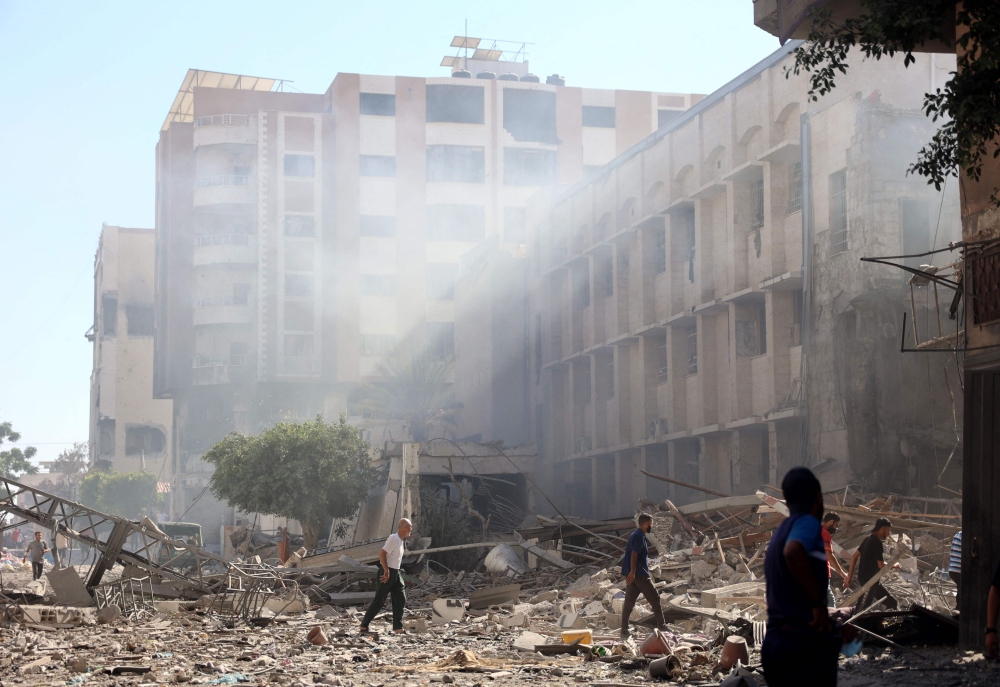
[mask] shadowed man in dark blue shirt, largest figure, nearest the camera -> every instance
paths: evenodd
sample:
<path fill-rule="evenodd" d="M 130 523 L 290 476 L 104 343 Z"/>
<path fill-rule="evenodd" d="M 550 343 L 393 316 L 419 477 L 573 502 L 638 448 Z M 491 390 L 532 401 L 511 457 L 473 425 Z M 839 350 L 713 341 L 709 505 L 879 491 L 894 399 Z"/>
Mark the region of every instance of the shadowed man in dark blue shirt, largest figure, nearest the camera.
<path fill-rule="evenodd" d="M 837 657 L 843 644 L 827 611 L 829 573 L 823 546 L 823 493 L 804 467 L 792 468 L 781 482 L 789 516 L 767 546 L 767 634 L 761 663 L 768 687 L 837 684 Z"/>

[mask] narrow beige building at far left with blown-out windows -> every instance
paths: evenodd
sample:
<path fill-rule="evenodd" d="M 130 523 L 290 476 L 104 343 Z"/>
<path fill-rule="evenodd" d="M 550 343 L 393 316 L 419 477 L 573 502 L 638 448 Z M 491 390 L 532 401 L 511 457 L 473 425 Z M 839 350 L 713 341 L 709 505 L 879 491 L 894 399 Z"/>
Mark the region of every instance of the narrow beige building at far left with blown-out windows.
<path fill-rule="evenodd" d="M 153 398 L 152 229 L 104 225 L 94 258 L 90 376 L 93 466 L 170 481 L 173 408 Z"/>

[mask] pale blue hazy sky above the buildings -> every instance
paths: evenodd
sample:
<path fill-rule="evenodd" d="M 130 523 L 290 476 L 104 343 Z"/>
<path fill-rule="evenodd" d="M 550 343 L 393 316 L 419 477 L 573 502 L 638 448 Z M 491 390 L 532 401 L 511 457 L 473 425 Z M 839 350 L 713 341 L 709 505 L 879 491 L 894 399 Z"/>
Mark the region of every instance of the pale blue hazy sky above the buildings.
<path fill-rule="evenodd" d="M 446 76 L 452 36 L 533 43 L 570 86 L 710 93 L 778 48 L 751 0 L 0 0 L 0 421 L 50 460 L 86 441 L 101 223 L 152 227 L 154 147 L 188 68 Z"/>

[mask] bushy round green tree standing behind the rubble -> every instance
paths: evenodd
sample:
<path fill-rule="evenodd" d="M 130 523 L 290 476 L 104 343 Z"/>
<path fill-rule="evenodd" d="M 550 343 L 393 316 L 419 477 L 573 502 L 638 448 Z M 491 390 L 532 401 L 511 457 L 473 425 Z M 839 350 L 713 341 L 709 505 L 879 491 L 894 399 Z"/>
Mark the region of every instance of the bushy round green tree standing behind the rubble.
<path fill-rule="evenodd" d="M 331 518 L 349 518 L 374 486 L 370 446 L 341 414 L 282 422 L 257 435 L 233 433 L 205 454 L 215 466 L 210 488 L 248 513 L 298 520 L 307 548 Z"/>

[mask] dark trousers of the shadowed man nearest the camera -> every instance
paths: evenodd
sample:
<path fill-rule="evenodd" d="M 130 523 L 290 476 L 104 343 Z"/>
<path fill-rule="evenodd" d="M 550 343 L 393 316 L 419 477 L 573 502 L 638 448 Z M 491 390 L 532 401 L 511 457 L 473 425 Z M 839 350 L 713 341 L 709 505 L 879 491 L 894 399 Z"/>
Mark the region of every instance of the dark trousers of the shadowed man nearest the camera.
<path fill-rule="evenodd" d="M 843 643 L 837 635 L 802 627 L 768 627 L 760 650 L 767 687 L 835 687 L 837 657 Z"/>

